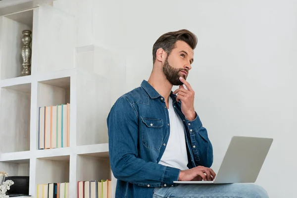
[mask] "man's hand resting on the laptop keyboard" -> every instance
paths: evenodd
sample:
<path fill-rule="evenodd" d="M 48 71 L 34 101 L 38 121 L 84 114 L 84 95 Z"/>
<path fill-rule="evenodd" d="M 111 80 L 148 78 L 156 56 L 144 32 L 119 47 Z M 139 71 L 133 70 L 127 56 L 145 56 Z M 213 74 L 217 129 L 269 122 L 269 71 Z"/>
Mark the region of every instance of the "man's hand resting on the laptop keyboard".
<path fill-rule="evenodd" d="M 197 166 L 189 170 L 180 171 L 179 181 L 213 181 L 216 174 L 211 168 Z"/>

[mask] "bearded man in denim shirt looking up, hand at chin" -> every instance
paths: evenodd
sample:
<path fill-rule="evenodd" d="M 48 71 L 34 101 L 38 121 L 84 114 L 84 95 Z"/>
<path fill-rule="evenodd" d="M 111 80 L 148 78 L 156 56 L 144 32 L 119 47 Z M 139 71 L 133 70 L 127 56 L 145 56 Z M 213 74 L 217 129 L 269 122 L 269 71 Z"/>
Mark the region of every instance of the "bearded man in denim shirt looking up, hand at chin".
<path fill-rule="evenodd" d="M 256 185 L 176 185 L 213 180 L 212 145 L 194 109 L 186 81 L 197 37 L 168 32 L 153 45 L 148 81 L 121 96 L 107 117 L 110 165 L 116 198 L 267 198 Z M 173 85 L 179 86 L 172 92 Z"/>

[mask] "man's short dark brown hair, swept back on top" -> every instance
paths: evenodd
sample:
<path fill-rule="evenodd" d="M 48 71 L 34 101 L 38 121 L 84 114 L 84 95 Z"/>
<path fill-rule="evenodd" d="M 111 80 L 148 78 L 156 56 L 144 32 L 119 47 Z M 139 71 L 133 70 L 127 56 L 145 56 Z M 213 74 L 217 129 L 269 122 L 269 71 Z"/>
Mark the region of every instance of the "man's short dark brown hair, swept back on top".
<path fill-rule="evenodd" d="M 160 36 L 152 47 L 152 63 L 154 64 L 156 60 L 157 49 L 164 49 L 168 55 L 171 50 L 175 48 L 177 41 L 186 42 L 192 49 L 197 46 L 197 36 L 190 32 L 189 30 L 182 29 L 175 32 L 167 32 Z"/>

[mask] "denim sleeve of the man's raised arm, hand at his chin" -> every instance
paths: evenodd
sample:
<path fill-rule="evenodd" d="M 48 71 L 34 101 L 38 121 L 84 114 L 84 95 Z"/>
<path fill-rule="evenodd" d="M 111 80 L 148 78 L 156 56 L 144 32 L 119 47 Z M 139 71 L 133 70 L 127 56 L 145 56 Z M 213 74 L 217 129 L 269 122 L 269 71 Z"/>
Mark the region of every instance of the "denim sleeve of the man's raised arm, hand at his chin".
<path fill-rule="evenodd" d="M 210 167 L 213 163 L 213 148 L 208 138 L 207 130 L 202 126 L 196 112 L 196 118 L 192 121 L 185 119 L 187 131 L 190 133 L 191 146 L 197 166 Z"/>

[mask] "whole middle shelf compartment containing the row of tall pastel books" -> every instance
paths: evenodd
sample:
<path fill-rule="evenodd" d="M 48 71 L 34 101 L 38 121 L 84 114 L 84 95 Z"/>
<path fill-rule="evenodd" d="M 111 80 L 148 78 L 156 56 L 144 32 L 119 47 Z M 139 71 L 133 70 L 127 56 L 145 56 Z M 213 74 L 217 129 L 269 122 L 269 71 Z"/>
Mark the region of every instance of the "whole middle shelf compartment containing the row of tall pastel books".
<path fill-rule="evenodd" d="M 38 82 L 38 149 L 70 146 L 70 77 Z"/>

